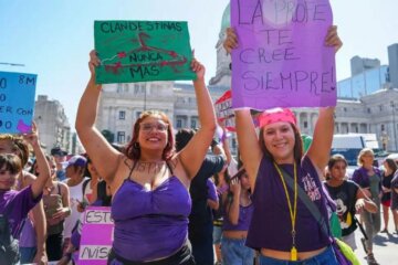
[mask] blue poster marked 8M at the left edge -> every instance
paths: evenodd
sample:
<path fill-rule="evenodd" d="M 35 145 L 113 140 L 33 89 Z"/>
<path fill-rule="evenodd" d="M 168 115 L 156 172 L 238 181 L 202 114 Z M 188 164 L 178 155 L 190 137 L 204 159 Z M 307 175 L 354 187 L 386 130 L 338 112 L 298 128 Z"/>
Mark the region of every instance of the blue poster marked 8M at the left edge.
<path fill-rule="evenodd" d="M 25 134 L 32 129 L 38 76 L 0 72 L 0 134 Z"/>

